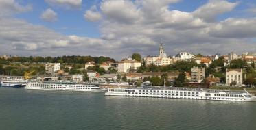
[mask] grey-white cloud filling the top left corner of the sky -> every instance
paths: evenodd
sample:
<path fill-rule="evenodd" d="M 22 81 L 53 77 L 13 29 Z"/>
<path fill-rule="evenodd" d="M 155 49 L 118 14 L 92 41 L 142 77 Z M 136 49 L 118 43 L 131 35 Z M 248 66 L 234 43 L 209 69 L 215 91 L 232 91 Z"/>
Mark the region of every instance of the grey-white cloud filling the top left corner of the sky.
<path fill-rule="evenodd" d="M 23 6 L 15 0 L 0 0 L 0 16 L 10 16 L 30 10 L 32 10 L 32 5 Z"/>

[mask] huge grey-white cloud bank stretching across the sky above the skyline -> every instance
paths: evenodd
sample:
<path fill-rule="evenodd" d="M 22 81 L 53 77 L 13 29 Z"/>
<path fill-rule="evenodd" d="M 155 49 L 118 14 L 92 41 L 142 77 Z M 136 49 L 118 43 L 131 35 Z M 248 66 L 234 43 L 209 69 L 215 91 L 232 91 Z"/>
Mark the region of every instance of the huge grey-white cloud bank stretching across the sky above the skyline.
<path fill-rule="evenodd" d="M 170 10 L 170 5 L 176 2 L 179 1 L 104 0 L 84 14 L 89 21 L 101 19 L 100 38 L 65 36 L 20 19 L 0 18 L 1 53 L 107 55 L 121 59 L 135 52 L 157 55 L 161 40 L 167 55 L 179 51 L 205 55 L 256 51 L 252 40 L 256 36 L 255 18 L 216 21 L 216 16 L 233 10 L 238 3 L 210 0 L 194 12 Z"/>

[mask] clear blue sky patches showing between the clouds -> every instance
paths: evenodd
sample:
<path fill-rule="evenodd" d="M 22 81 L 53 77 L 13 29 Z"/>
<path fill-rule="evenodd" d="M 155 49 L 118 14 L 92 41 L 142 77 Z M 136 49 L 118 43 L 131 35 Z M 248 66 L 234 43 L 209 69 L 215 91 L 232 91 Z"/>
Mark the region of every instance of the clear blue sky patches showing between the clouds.
<path fill-rule="evenodd" d="M 45 1 L 33 1 L 33 0 L 23 0 L 21 4 L 33 5 L 33 11 L 17 14 L 16 18 L 22 18 L 26 21 L 33 23 L 35 25 L 44 25 L 45 27 L 49 27 L 54 29 L 55 31 L 64 34 L 64 35 L 77 35 L 77 36 L 89 36 L 92 38 L 99 38 L 99 23 L 93 23 L 91 21 L 84 20 L 84 12 L 89 10 L 93 5 L 100 5 L 102 1 L 100 0 L 84 0 L 82 1 L 82 7 L 74 8 L 71 10 L 67 10 L 65 8 L 60 8 L 56 6 L 49 5 Z M 207 3 L 208 0 L 182 0 L 181 2 L 175 3 L 174 5 L 170 5 L 170 10 L 181 10 L 184 12 L 193 12 L 201 5 Z M 237 2 L 235 0 L 231 2 Z M 251 4 L 255 4 L 256 1 L 253 0 L 243 0 L 238 1 L 240 5 L 238 5 L 233 12 L 227 12 L 218 16 L 219 20 L 229 17 L 246 17 L 246 14 L 242 13 L 246 8 L 250 8 Z M 58 13 L 58 21 L 51 23 L 47 21 L 42 21 L 40 19 L 40 14 L 46 10 L 47 8 L 51 8 L 55 12 Z"/>

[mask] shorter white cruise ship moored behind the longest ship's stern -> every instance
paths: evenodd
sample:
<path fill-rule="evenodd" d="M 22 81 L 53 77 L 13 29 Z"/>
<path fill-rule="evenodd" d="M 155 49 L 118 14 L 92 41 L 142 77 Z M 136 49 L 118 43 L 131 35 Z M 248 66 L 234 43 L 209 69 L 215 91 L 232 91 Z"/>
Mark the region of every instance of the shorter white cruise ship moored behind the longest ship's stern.
<path fill-rule="evenodd" d="M 95 84 L 69 82 L 29 82 L 25 89 L 106 92 L 106 90 Z"/>

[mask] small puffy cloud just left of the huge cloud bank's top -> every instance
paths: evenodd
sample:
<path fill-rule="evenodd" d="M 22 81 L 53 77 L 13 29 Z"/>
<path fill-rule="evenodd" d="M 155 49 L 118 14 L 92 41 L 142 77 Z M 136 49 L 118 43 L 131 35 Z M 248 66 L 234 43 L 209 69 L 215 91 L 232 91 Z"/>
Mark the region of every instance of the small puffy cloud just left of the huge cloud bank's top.
<path fill-rule="evenodd" d="M 100 12 L 97 11 L 96 6 L 93 6 L 90 10 L 87 10 L 84 13 L 84 18 L 86 18 L 89 21 L 100 21 L 102 15 L 100 14 Z"/>

